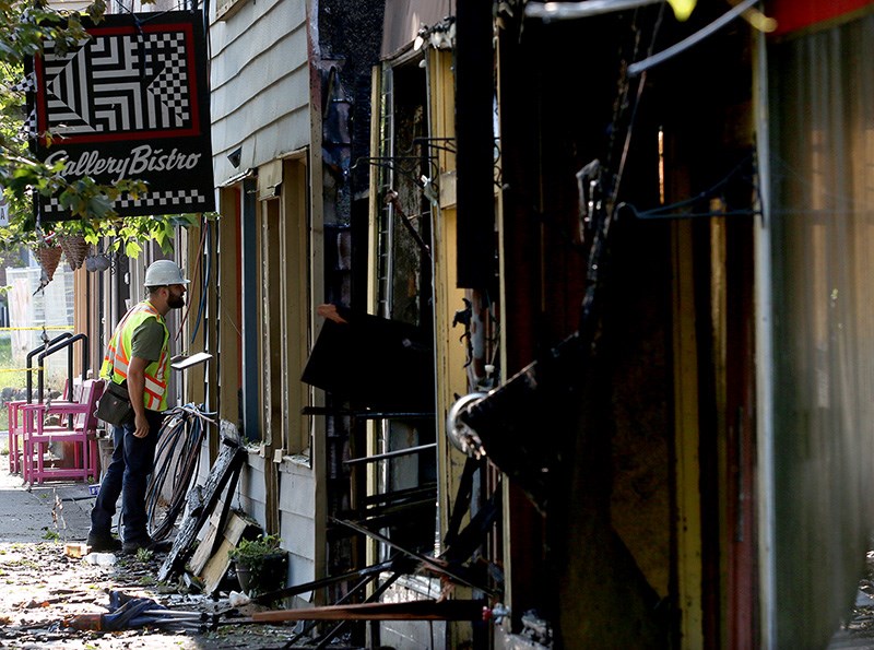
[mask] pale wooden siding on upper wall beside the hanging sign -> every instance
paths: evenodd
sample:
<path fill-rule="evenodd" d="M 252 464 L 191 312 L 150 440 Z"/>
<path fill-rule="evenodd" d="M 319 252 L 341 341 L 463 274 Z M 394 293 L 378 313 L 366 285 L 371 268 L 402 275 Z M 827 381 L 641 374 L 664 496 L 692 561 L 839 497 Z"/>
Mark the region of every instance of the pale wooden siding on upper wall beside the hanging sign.
<path fill-rule="evenodd" d="M 306 5 L 247 3 L 210 27 L 216 182 L 257 167 L 310 139 Z M 241 147 L 239 167 L 227 154 Z"/>

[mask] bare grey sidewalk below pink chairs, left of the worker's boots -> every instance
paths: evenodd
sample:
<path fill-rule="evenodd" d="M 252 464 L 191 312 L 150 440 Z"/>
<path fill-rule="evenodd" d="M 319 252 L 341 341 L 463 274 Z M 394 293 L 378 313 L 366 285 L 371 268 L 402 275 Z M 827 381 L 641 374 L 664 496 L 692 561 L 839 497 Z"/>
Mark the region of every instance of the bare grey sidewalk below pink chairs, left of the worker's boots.
<path fill-rule="evenodd" d="M 0 457 L 5 464 L 7 457 Z M 29 487 L 20 475 L 0 470 L 0 543 L 40 542 L 57 533 L 84 542 L 95 496 L 88 484 L 52 481 Z"/>

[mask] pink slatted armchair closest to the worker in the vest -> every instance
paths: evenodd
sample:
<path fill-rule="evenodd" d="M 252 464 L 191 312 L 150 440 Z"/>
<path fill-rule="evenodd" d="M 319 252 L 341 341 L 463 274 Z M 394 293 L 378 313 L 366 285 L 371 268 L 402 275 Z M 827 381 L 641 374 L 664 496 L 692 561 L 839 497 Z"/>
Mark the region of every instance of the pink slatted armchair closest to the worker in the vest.
<path fill-rule="evenodd" d="M 51 402 L 24 404 L 20 406 L 23 429 L 22 477 L 31 485 L 43 483 L 46 478 L 97 477 L 97 400 L 104 389 L 102 379 L 87 379 L 82 385 L 79 402 Z M 49 415 L 59 415 L 61 421 L 73 416 L 72 426 L 48 425 Z M 51 442 L 72 442 L 73 464 L 71 468 L 48 466 L 45 453 Z"/>

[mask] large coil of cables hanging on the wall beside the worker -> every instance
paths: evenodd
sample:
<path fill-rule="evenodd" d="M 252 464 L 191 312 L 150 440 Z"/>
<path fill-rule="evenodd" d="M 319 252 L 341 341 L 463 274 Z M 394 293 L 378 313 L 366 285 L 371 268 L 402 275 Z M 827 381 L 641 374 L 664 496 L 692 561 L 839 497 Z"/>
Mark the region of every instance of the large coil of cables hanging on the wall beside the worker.
<path fill-rule="evenodd" d="M 145 494 L 149 534 L 166 540 L 182 512 L 192 477 L 200 464 L 201 442 L 206 425 L 215 424 L 214 413 L 196 404 L 185 404 L 166 412 L 155 450 L 155 468 Z M 169 497 L 165 496 L 169 493 Z"/>

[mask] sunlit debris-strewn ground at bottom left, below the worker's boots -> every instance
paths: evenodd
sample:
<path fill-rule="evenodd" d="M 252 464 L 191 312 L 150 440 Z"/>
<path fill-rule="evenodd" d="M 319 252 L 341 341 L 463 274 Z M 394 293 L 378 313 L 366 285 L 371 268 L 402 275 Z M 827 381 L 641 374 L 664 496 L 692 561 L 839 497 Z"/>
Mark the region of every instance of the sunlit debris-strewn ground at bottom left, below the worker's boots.
<path fill-rule="evenodd" d="M 109 554 L 66 552 L 57 541 L 0 544 L 0 648 L 281 648 L 294 635 L 290 625 L 251 623 L 265 607 L 241 594 L 208 598 L 160 584 L 160 556 L 117 556 L 109 565 L 90 560 Z M 108 631 L 130 603 L 154 621 L 130 618 Z"/>

